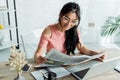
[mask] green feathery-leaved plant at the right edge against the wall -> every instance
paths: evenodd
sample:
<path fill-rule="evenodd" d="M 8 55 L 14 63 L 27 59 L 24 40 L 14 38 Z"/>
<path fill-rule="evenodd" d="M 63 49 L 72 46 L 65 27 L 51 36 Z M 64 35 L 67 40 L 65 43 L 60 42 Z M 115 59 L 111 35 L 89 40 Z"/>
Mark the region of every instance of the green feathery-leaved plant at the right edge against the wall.
<path fill-rule="evenodd" d="M 105 24 L 102 26 L 102 36 L 111 36 L 114 33 L 120 34 L 120 15 L 110 16 L 106 19 Z"/>

